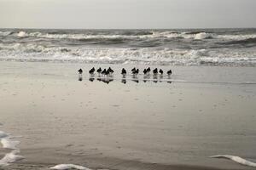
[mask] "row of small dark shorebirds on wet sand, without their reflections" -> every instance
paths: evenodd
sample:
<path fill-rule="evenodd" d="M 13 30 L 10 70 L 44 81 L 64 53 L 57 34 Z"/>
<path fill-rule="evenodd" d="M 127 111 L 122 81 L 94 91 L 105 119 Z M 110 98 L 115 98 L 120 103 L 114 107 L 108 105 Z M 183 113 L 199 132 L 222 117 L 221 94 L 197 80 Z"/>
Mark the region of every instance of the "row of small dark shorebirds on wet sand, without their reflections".
<path fill-rule="evenodd" d="M 110 76 L 114 72 L 111 67 L 108 67 L 108 69 L 103 69 L 103 70 L 102 70 L 101 67 L 98 68 L 97 70 L 94 67 L 92 67 L 92 69 L 90 69 L 90 71 L 89 71 L 90 76 L 94 75 L 95 71 L 99 75 L 103 75 L 103 76 Z M 150 67 L 143 70 L 144 75 L 149 75 L 150 72 L 151 72 Z M 161 70 L 161 69 L 158 70 L 157 68 L 155 68 L 152 72 L 153 72 L 154 75 L 158 75 L 158 74 L 163 75 L 164 74 L 163 70 Z M 79 74 L 82 74 L 82 73 L 83 73 L 83 70 L 79 69 Z M 168 76 L 171 76 L 172 75 L 172 70 L 166 71 L 166 73 L 167 73 Z M 122 71 L 121 71 L 121 75 L 125 76 L 126 74 L 127 74 L 127 71 L 125 70 L 125 68 L 123 68 Z M 131 74 L 134 75 L 134 76 L 137 76 L 139 74 L 139 69 L 134 67 L 133 69 L 131 69 Z"/>

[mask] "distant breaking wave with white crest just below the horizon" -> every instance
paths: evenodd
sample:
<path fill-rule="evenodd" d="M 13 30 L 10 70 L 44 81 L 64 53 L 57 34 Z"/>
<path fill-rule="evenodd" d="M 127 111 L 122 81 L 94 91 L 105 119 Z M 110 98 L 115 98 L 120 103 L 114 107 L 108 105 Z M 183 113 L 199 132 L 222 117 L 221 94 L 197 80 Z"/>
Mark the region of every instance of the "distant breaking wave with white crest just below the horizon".
<path fill-rule="evenodd" d="M 192 39 L 192 40 L 203 40 L 203 39 L 219 39 L 219 40 L 245 40 L 248 38 L 256 38 L 255 32 L 251 34 L 244 34 L 247 32 L 235 32 L 236 34 L 230 34 L 232 31 L 206 31 L 206 30 L 195 30 L 195 31 L 145 31 L 145 30 L 134 30 L 134 31 L 60 31 L 60 30 L 34 30 L 34 31 L 0 31 L 1 37 L 35 37 L 35 38 L 49 38 L 49 39 L 73 39 L 73 40 L 84 40 L 87 39 L 146 39 L 146 38 L 167 38 L 167 39 Z"/>

